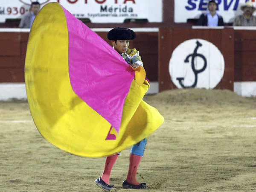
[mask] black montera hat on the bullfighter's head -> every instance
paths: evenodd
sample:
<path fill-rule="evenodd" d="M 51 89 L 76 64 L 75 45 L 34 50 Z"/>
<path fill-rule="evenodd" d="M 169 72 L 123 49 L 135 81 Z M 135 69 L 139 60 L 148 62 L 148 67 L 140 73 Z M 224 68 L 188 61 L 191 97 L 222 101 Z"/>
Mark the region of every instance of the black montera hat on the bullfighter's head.
<path fill-rule="evenodd" d="M 107 38 L 109 40 L 130 40 L 136 37 L 135 32 L 131 29 L 125 27 L 115 27 L 111 29 L 108 34 Z"/>

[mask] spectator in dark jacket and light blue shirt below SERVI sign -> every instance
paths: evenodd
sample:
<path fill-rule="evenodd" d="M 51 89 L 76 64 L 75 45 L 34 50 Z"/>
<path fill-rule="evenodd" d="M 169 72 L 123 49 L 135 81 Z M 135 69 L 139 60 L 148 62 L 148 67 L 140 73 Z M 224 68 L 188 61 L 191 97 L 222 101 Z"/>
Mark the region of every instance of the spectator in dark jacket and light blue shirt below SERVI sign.
<path fill-rule="evenodd" d="M 224 26 L 223 18 L 216 13 L 217 3 L 210 0 L 208 3 L 208 11 L 203 13 L 199 20 L 199 26 Z"/>

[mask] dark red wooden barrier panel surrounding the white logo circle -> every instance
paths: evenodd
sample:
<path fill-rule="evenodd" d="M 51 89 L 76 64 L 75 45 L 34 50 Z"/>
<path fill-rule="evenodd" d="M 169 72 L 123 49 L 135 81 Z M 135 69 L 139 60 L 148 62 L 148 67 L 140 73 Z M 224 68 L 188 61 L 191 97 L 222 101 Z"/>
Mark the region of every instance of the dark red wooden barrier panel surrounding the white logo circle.
<path fill-rule="evenodd" d="M 224 76 L 216 86 L 218 89 L 233 90 L 234 83 L 234 30 L 230 28 L 210 29 L 207 27 L 161 28 L 158 35 L 158 82 L 159 91 L 176 88 L 169 75 L 169 61 L 173 50 L 189 39 L 204 39 L 214 44 L 224 56 Z"/>

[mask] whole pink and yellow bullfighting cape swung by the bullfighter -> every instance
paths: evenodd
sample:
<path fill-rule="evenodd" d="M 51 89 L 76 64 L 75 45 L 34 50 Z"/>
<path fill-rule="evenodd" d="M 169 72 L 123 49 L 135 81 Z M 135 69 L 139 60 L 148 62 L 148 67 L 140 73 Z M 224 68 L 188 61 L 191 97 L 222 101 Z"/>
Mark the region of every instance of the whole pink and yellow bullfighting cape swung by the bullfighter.
<path fill-rule="evenodd" d="M 38 131 L 72 154 L 114 154 L 163 123 L 142 100 L 149 87 L 143 67 L 134 71 L 58 3 L 45 5 L 32 25 L 25 83 Z"/>

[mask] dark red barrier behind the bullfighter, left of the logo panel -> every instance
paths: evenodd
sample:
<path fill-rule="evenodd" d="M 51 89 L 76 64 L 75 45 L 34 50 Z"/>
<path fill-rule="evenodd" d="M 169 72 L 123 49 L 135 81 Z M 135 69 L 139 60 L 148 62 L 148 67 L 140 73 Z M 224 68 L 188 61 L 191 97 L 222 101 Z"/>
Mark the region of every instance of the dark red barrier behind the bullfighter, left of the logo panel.
<path fill-rule="evenodd" d="M 110 29 L 96 29 L 96 33 L 106 42 Z M 157 81 L 158 28 L 134 29 L 136 39 L 130 48 L 140 51 L 140 56 L 150 81 Z M 24 82 L 24 64 L 29 29 L 0 30 L 0 82 Z M 107 63 L 107 61 L 106 61 Z"/>

